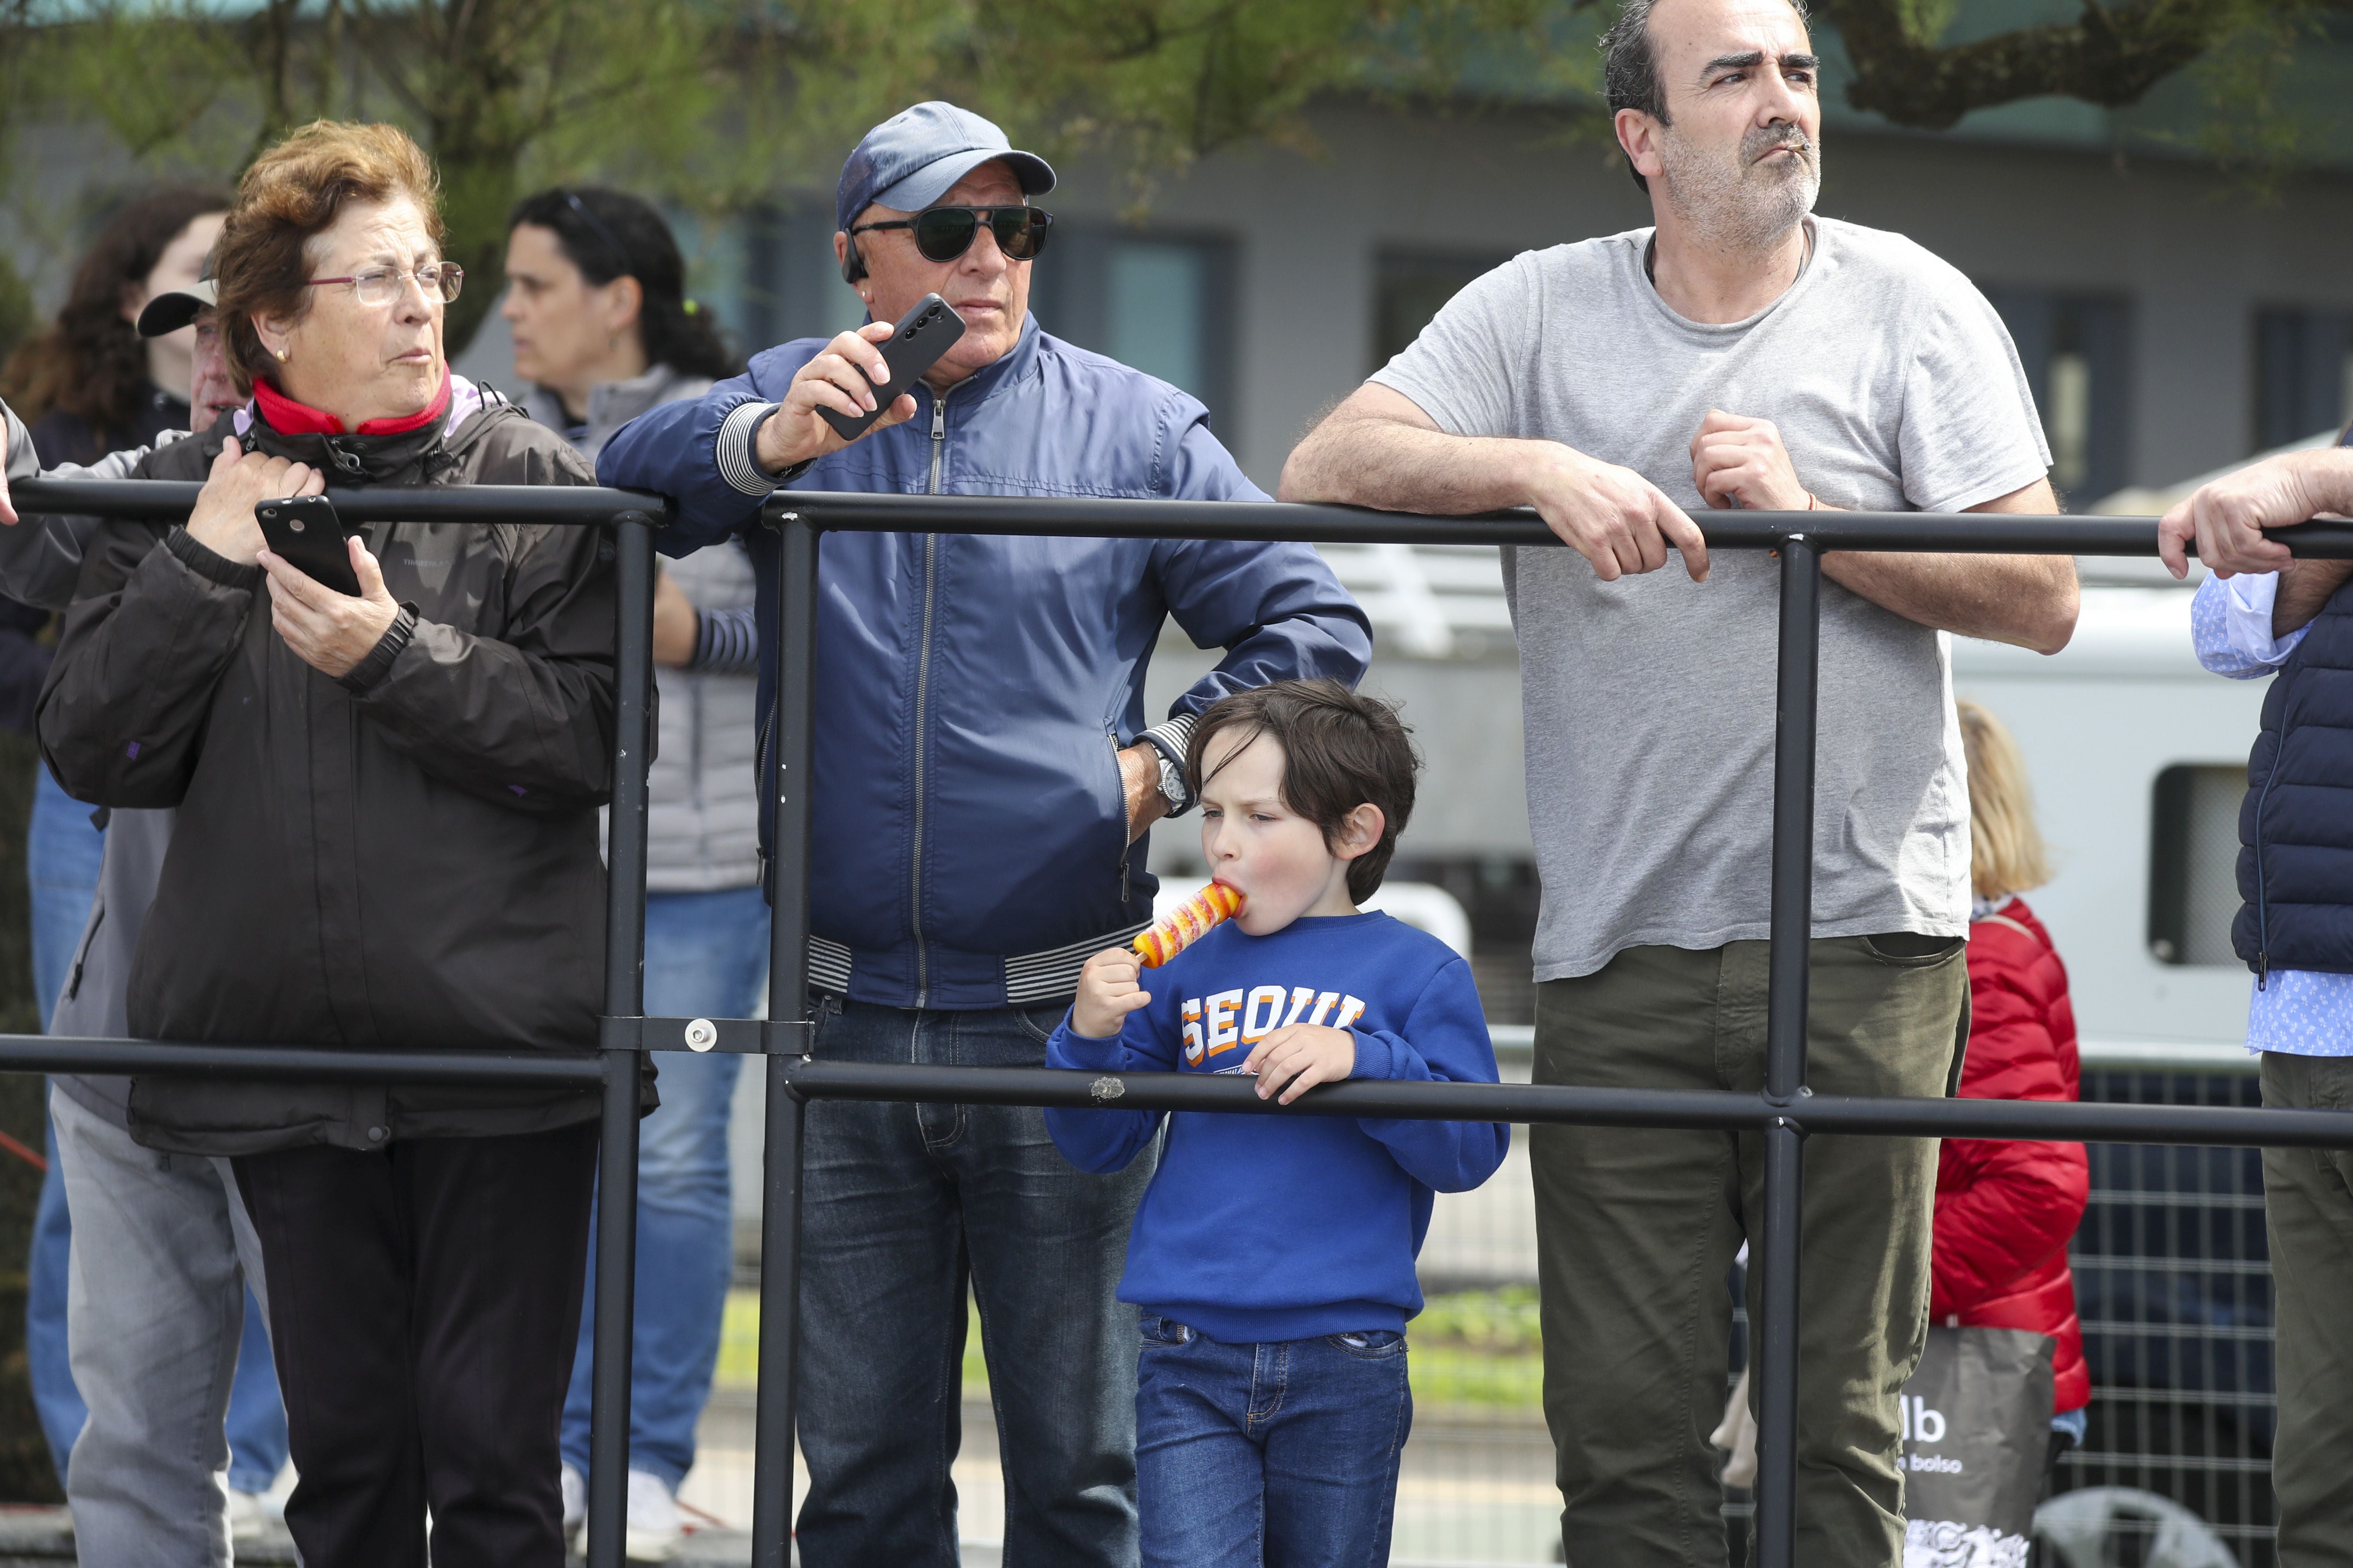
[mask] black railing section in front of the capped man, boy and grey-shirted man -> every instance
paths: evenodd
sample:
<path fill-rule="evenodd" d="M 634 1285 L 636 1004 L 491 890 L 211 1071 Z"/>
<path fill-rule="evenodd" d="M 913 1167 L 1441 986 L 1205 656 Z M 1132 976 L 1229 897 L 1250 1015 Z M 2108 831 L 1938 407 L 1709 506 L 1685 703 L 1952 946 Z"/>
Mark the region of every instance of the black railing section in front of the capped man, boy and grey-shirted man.
<path fill-rule="evenodd" d="M 776 856 L 805 867 L 807 778 L 816 658 L 816 538 L 824 531 L 1031 534 L 1064 538 L 1233 538 L 1311 543 L 1485 543 L 1558 548 L 1532 512 L 1409 517 L 1341 505 L 1089 501 L 1026 496 L 779 494 L 769 522 L 784 531 L 776 581 Z M 1181 1074 L 1075 1074 L 1052 1070 L 826 1063 L 809 1053 L 807 882 L 779 884 L 769 1025 L 786 1056 L 769 1060 L 767 1190 L 760 1253 L 760 1408 L 753 1472 L 753 1563 L 791 1561 L 793 1399 L 800 1269 L 800 1145 L 807 1100 L 993 1105 L 1101 1105 L 1245 1114 L 1421 1117 L 1760 1131 L 1765 1215 L 1753 1246 L 1765 1269 L 1755 1333 L 1758 1563 L 1795 1568 L 1798 1241 L 1809 1133 L 1918 1138 L 2097 1138 L 2108 1143 L 2353 1145 L 2353 1119 L 2334 1112 L 2174 1105 L 2059 1105 L 2007 1100 L 1899 1100 L 1814 1095 L 1805 1088 L 1807 964 L 1812 936 L 1814 693 L 1821 651 L 1821 555 L 1908 550 L 1974 555 L 2155 555 L 2146 517 L 2017 517 L 1922 512 L 1708 512 L 1711 550 L 1781 557 L 1779 682 L 1772 830 L 1772 957 L 1765 1088 L 1624 1091 L 1537 1084 L 1329 1084 L 1282 1107 L 1249 1084 Z M 2353 557 L 2353 527 L 2315 522 L 2282 534 L 2299 555 Z M 798 1046 L 798 1053 L 795 1053 Z"/>

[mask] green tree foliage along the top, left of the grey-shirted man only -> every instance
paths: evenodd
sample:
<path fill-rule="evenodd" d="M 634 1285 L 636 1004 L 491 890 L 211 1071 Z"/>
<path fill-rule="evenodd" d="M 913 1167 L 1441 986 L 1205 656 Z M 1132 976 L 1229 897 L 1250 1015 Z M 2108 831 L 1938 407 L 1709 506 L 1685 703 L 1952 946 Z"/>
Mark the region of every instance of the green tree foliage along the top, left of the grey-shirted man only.
<path fill-rule="evenodd" d="M 1322 92 L 1454 92 L 1480 49 L 1553 54 L 1546 0 L 47 0 L 0 7 L 40 59 L 9 113 L 78 115 L 148 162 L 233 167 L 313 118 L 407 125 L 442 174 L 449 256 L 499 275 L 506 212 L 602 176 L 706 212 L 831 183 L 845 146 L 953 96 L 1049 155 L 1134 179 L 1299 136 Z M 7 16 L 14 14 L 14 31 Z M 489 308 L 449 313 L 461 348 Z"/>

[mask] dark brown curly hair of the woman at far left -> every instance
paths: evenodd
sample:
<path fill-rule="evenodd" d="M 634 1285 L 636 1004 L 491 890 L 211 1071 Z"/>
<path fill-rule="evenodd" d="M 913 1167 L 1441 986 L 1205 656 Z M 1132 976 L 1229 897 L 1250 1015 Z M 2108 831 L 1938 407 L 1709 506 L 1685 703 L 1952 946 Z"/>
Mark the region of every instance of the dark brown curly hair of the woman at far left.
<path fill-rule="evenodd" d="M 89 421 L 99 451 L 129 437 L 146 404 L 148 360 L 139 329 L 122 320 L 122 294 L 146 284 L 172 240 L 209 212 L 228 212 L 228 197 L 200 188 L 148 190 L 115 212 L 73 268 L 56 324 L 0 371 L 19 418 L 33 421 L 49 409 L 75 414 Z M 162 390 L 188 395 L 184 386 Z"/>

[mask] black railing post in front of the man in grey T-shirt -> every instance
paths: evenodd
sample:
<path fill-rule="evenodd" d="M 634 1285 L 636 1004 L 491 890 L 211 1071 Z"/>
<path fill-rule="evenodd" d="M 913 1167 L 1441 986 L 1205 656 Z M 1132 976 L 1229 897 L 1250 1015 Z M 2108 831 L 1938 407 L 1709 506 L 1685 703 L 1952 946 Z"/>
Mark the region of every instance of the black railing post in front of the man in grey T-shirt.
<path fill-rule="evenodd" d="M 1805 1098 L 1805 990 L 1814 940 L 1814 691 L 1821 672 L 1821 552 L 1781 543 L 1781 670 L 1772 759 L 1772 971 L 1765 1001 L 1765 1100 Z M 1762 1291 L 1755 1333 L 1758 1566 L 1798 1563 L 1798 1251 L 1805 1227 L 1805 1133 L 1765 1126 Z"/>

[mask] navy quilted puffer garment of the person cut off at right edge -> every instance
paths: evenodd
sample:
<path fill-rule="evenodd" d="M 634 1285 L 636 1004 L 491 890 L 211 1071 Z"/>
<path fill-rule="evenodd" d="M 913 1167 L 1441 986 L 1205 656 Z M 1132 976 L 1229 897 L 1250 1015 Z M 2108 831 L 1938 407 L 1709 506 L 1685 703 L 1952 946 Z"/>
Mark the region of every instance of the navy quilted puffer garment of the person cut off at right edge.
<path fill-rule="evenodd" d="M 2353 583 L 2264 696 L 2238 842 L 2231 947 L 2247 969 L 2353 973 Z"/>

